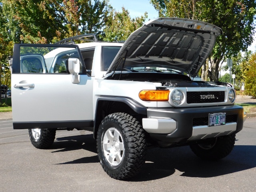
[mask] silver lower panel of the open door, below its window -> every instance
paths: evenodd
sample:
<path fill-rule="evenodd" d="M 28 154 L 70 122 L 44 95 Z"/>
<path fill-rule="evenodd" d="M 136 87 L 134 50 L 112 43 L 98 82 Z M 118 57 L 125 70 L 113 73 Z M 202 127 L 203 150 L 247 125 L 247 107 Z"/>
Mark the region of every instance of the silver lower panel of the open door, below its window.
<path fill-rule="evenodd" d="M 15 88 L 22 81 L 34 88 Z M 93 78 L 80 75 L 72 83 L 71 74 L 12 74 L 14 122 L 93 120 Z"/>

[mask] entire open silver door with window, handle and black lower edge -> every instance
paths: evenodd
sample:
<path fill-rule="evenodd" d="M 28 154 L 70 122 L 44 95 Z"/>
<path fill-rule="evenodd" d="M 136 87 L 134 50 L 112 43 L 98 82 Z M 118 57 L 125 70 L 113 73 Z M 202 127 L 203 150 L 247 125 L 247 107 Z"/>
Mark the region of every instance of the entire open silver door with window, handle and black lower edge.
<path fill-rule="evenodd" d="M 14 45 L 14 129 L 93 127 L 92 88 L 77 45 Z"/>

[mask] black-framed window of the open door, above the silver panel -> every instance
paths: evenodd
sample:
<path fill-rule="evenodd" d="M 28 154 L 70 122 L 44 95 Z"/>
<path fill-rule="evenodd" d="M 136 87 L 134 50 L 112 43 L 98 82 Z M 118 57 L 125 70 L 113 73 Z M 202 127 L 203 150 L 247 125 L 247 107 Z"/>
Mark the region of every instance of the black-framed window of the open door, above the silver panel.
<path fill-rule="evenodd" d="M 20 49 L 20 55 L 15 57 L 15 66 L 12 67 L 14 73 L 68 74 L 67 64 L 69 58 L 78 58 L 80 61 L 80 74 L 85 73 L 82 55 L 76 45 L 16 45 L 15 47 Z"/>

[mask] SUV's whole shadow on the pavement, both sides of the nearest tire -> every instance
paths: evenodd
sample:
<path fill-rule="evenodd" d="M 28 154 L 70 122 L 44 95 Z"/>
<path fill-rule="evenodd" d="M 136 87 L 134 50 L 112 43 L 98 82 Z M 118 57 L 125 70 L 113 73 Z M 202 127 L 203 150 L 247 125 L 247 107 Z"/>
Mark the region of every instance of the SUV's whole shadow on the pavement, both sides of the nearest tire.
<path fill-rule="evenodd" d="M 92 134 L 56 138 L 50 149 L 54 152 L 84 149 L 97 153 L 96 141 Z M 140 174 L 126 180 L 127 182 L 143 182 L 178 174 L 186 177 L 209 178 L 256 167 L 256 146 L 236 145 L 233 151 L 219 161 L 204 161 L 190 150 L 189 146 L 178 148 L 151 148 L 147 150 L 146 164 Z M 62 164 L 98 163 L 98 157 L 90 156 Z"/>

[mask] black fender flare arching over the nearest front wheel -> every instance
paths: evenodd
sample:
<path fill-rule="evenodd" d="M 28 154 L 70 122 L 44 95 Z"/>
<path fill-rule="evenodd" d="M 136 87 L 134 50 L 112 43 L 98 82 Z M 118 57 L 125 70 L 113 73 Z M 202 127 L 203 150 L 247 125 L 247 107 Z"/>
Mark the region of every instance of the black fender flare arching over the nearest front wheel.
<path fill-rule="evenodd" d="M 104 117 L 116 112 L 130 114 L 136 117 L 139 122 L 141 121 L 142 117 L 147 115 L 146 107 L 142 106 L 131 98 L 101 96 L 97 99 L 96 103 L 93 129 L 94 139 L 97 138 L 98 128 Z"/>

